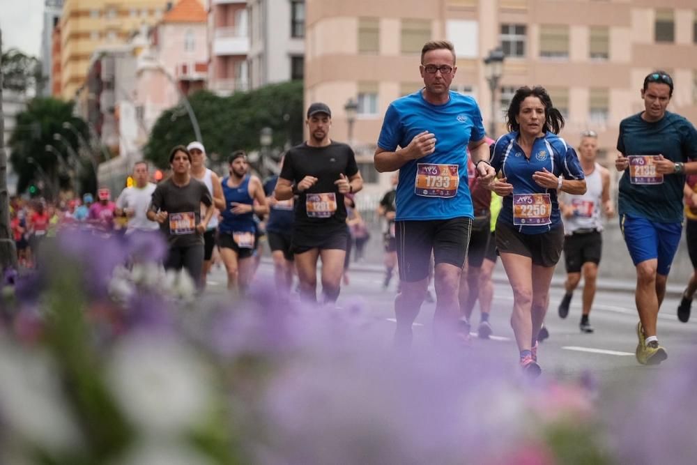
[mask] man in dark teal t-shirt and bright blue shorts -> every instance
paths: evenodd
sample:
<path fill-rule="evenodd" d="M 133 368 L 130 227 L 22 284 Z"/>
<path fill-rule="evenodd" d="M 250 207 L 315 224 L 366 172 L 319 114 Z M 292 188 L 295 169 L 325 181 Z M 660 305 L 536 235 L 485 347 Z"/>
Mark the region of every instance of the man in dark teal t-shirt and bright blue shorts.
<path fill-rule="evenodd" d="M 685 174 L 697 173 L 697 131 L 666 107 L 673 79 L 664 71 L 644 78 L 644 111 L 620 123 L 615 160 L 620 179 L 620 226 L 636 267 L 636 360 L 657 365 L 668 357 L 656 323 L 682 233 Z"/>

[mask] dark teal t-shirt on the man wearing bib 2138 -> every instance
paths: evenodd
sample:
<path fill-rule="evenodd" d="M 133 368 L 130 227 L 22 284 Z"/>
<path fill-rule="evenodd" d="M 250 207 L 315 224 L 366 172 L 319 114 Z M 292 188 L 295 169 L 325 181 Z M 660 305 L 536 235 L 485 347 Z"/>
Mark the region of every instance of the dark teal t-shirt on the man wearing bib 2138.
<path fill-rule="evenodd" d="M 620 123 L 617 149 L 624 155 L 658 155 L 674 162 L 697 158 L 697 131 L 682 116 L 666 112 L 659 121 L 650 123 L 641 113 Z M 664 174 L 663 183 L 632 184 L 629 168 L 620 178 L 618 212 L 659 223 L 682 221 L 684 174 Z"/>

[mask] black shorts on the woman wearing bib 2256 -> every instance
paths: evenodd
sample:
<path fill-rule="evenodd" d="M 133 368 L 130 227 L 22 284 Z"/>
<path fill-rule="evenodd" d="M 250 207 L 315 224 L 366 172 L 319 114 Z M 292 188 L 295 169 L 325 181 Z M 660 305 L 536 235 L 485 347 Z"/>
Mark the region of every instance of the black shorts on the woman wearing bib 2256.
<path fill-rule="evenodd" d="M 564 247 L 564 227 L 540 234 L 523 234 L 518 228 L 496 222 L 496 247 L 500 254 L 523 255 L 533 259 L 533 265 L 555 266 Z"/>

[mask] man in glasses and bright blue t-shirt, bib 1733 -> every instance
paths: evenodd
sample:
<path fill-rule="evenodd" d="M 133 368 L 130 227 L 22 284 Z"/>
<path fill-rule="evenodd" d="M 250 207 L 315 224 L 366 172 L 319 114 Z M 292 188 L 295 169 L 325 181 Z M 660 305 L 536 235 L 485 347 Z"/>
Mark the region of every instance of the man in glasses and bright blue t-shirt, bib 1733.
<path fill-rule="evenodd" d="M 434 335 L 452 335 L 459 316 L 458 289 L 472 227 L 467 150 L 477 176 L 491 182 L 489 146 L 473 98 L 450 91 L 457 67 L 452 43 L 429 41 L 422 48 L 424 88 L 392 102 L 375 152 L 375 168 L 399 169 L 395 236 L 401 292 L 395 299 L 395 343 L 411 344 L 411 326 L 435 261 Z"/>

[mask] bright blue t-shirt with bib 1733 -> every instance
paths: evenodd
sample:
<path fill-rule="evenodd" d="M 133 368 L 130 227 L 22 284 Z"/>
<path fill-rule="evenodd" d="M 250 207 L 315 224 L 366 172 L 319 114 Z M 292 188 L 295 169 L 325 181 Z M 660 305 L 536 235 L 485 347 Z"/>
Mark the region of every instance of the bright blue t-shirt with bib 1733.
<path fill-rule="evenodd" d="M 421 91 L 399 98 L 385 112 L 378 146 L 393 152 L 397 146 L 408 146 L 415 135 L 424 131 L 436 136 L 436 151 L 410 160 L 399 169 L 396 220 L 474 218 L 467 178 L 467 145 L 484 139 L 486 134 L 477 102 L 452 91 L 450 100 L 443 105 L 427 102 Z M 435 165 L 441 165 L 438 169 L 445 171 L 428 176 L 429 169 L 436 169 Z M 450 177 L 444 176 L 446 171 Z M 430 185 L 433 179 L 437 183 Z M 457 192 L 448 190 L 454 187 L 456 179 L 459 179 Z"/>

